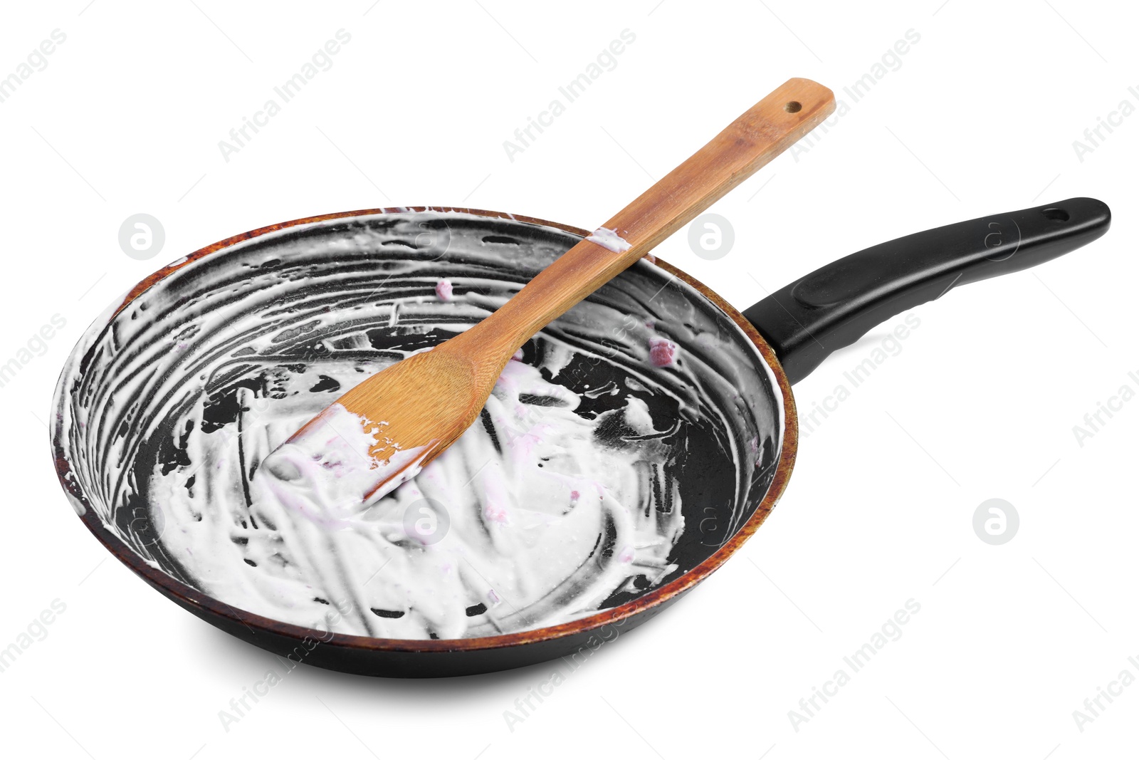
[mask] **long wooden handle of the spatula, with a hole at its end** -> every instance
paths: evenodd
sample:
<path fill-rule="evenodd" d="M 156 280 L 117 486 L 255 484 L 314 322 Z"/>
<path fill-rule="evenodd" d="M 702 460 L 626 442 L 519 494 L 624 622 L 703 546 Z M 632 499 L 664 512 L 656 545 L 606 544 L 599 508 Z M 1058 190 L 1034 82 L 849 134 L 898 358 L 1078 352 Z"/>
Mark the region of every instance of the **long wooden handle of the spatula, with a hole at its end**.
<path fill-rule="evenodd" d="M 485 356 L 514 353 L 535 333 L 628 269 L 728 190 L 790 147 L 835 109 L 834 93 L 792 79 L 752 106 L 685 163 L 564 253 L 502 308 L 464 334 Z M 629 247 L 624 248 L 623 243 Z M 469 345 L 469 343 L 468 343 Z"/>

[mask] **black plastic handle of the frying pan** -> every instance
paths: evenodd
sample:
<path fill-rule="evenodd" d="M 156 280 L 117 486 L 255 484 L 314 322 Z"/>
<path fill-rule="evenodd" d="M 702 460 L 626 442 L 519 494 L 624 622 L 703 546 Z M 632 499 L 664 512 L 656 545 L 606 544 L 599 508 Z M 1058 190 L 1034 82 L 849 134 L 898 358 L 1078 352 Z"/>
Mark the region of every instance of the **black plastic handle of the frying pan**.
<path fill-rule="evenodd" d="M 1019 271 L 1091 243 L 1103 201 L 1068 198 L 916 232 L 852 253 L 772 293 L 744 316 L 797 383 L 894 314 L 966 283 Z"/>

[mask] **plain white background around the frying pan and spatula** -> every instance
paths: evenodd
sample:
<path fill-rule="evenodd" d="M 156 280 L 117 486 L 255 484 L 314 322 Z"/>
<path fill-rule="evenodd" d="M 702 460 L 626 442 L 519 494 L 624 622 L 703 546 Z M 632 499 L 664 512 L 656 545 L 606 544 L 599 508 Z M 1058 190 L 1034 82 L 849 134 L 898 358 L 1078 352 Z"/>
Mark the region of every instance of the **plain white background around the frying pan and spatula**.
<path fill-rule="evenodd" d="M 1139 401 L 1082 447 L 1073 433 L 1121 385 L 1139 390 L 1139 115 L 1082 161 L 1073 148 L 1121 100 L 1139 106 L 1133 8 L 68 0 L 2 13 L 0 76 L 66 34 L 0 103 L 0 363 L 54 314 L 66 321 L 0 387 L 0 648 L 66 605 L 0 672 L 3 754 L 1133 757 L 1139 685 L 1082 732 L 1073 718 L 1122 670 L 1139 677 Z M 351 42 L 331 68 L 227 162 L 219 140 L 339 28 Z M 511 162 L 503 140 L 626 28 L 616 67 Z M 853 103 L 842 88 L 908 30 L 920 41 Z M 593 227 L 789 76 L 830 85 L 849 113 L 713 207 L 735 228 L 728 255 L 699 259 L 682 234 L 658 250 L 739 308 L 837 256 L 984 214 L 1087 195 L 1112 206 L 1113 228 L 915 310 L 902 350 L 802 441 L 746 547 L 513 730 L 503 712 L 556 663 L 440 681 L 305 665 L 226 730 L 219 711 L 278 661 L 109 558 L 57 485 L 49 399 L 87 325 L 161 264 L 298 216 L 466 205 Z M 166 232 L 148 261 L 117 242 L 139 212 Z M 800 408 L 901 320 L 797 385 Z M 1021 517 L 1002 546 L 974 534 L 990 498 Z M 796 730 L 788 711 L 908 599 L 920 612 L 901 638 Z"/>

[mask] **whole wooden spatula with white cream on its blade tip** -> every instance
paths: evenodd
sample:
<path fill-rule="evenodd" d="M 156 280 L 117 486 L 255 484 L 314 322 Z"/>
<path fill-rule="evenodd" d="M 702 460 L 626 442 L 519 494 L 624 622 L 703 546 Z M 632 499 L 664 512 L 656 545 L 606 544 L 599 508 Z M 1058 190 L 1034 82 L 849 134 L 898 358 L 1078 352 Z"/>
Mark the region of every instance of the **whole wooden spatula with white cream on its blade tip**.
<path fill-rule="evenodd" d="M 294 480 L 308 469 L 306 461 L 319 460 L 328 447 L 339 450 L 335 466 L 350 464 L 349 450 L 359 450 L 355 459 L 366 461 L 367 476 L 350 480 L 363 489 L 361 498 L 382 496 L 412 477 L 478 417 L 507 361 L 535 333 L 631 267 L 834 109 L 834 93 L 827 88 L 811 80 L 788 80 L 562 254 L 493 314 L 360 383 L 306 423 L 265 465 L 289 449 L 293 456 L 287 459 L 293 464 L 282 465 L 278 457 L 269 469 Z M 358 430 L 346 430 L 353 426 Z M 369 448 L 367 460 L 363 450 Z M 320 464 L 329 467 L 328 461 Z"/>

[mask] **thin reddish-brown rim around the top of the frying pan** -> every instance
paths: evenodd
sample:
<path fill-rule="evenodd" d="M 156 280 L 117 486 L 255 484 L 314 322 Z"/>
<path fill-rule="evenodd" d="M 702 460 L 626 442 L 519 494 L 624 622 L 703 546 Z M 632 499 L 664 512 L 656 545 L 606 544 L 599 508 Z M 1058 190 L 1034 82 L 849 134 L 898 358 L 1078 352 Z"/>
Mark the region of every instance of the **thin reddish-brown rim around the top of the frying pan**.
<path fill-rule="evenodd" d="M 228 237 L 218 243 L 206 245 L 197 251 L 170 263 L 165 267 L 158 269 L 157 271 L 142 278 L 134 287 L 132 287 L 124 296 L 121 304 L 118 304 L 114 310 L 107 309 L 104 311 L 96 320 L 92 322 L 91 327 L 95 325 L 100 325 L 105 328 L 110 324 L 112 320 L 131 302 L 134 301 L 142 293 L 148 291 L 151 286 L 165 279 L 173 272 L 178 271 L 182 267 L 186 267 L 192 262 L 196 262 L 210 254 L 216 253 L 230 248 L 239 243 L 261 237 L 271 232 L 277 232 L 293 227 L 300 227 L 303 224 L 312 224 L 325 221 L 331 221 L 337 219 L 346 219 L 351 216 L 366 216 L 366 215 L 380 215 L 380 214 L 395 214 L 395 213 L 464 213 L 475 216 L 484 216 L 490 219 L 507 219 L 511 221 L 539 224 L 543 227 L 550 227 L 559 229 L 579 237 L 585 237 L 590 235 L 589 230 L 584 230 L 570 224 L 563 224 L 559 222 L 551 222 L 544 219 L 538 219 L 533 216 L 509 214 L 498 211 L 486 211 L 481 209 L 465 209 L 465 207 L 451 207 L 451 206 L 388 206 L 380 209 L 362 209 L 357 211 L 344 211 L 335 212 L 328 214 L 320 214 L 316 216 L 304 216 L 301 219 L 294 219 L 285 222 L 278 222 L 274 224 L 268 224 L 265 227 L 260 227 L 257 229 L 241 232 Z M 650 254 L 652 255 L 652 254 Z M 524 644 L 538 644 L 543 641 L 555 641 L 560 638 L 576 636 L 581 634 L 588 634 L 590 631 L 599 630 L 606 626 L 621 626 L 626 620 L 630 620 L 641 613 L 645 613 L 654 607 L 658 607 L 671 599 L 679 597 L 685 594 L 694 586 L 703 581 L 705 578 L 711 575 L 716 571 L 727 559 L 734 555 L 744 542 L 755 533 L 759 526 L 767 520 L 768 515 L 778 504 L 779 499 L 782 497 L 785 489 L 787 488 L 787 482 L 790 477 L 790 471 L 795 464 L 795 456 L 798 449 L 798 417 L 795 409 L 795 401 L 792 394 L 790 382 L 784 371 L 782 366 L 779 363 L 779 359 L 776 357 L 775 350 L 768 344 L 768 342 L 760 335 L 759 330 L 744 317 L 744 314 L 738 311 L 735 307 L 724 301 L 719 294 L 708 288 L 706 285 L 686 273 L 681 269 L 673 267 L 672 264 L 653 256 L 650 261 L 654 262 L 656 267 L 659 267 L 664 271 L 669 272 L 677 279 L 680 279 L 688 284 L 690 287 L 699 292 L 704 297 L 713 303 L 720 311 L 731 318 L 731 320 L 743 330 L 744 335 L 754 344 L 755 349 L 759 351 L 761 358 L 767 363 L 771 374 L 775 376 L 776 385 L 779 387 L 781 395 L 781 431 L 782 441 L 780 444 L 779 459 L 776 465 L 776 472 L 772 475 L 770 485 L 768 487 L 767 493 L 764 493 L 763 499 L 755 507 L 755 510 L 747 518 L 747 521 L 740 525 L 731 536 L 728 538 L 715 551 L 713 551 L 703 562 L 697 564 L 695 567 L 688 570 L 687 572 L 680 574 L 679 577 L 672 579 L 671 581 L 663 583 L 662 586 L 648 591 L 647 594 L 625 602 L 616 607 L 609 610 L 598 611 L 597 613 L 579 618 L 576 620 L 559 623 L 557 626 L 547 626 L 542 628 L 535 628 L 526 631 L 517 631 L 514 634 L 502 634 L 498 636 L 486 636 L 477 638 L 459 638 L 459 639 L 400 639 L 400 638 L 374 638 L 369 636 L 357 636 L 350 634 L 331 634 L 329 631 L 322 631 L 316 628 L 308 628 L 304 626 L 296 626 L 293 623 L 286 623 L 272 618 L 265 618 L 257 615 L 244 610 L 236 610 L 229 604 L 222 602 L 221 599 L 214 598 L 207 594 L 199 591 L 198 589 L 169 575 L 161 569 L 150 565 L 146 559 L 138 555 L 133 549 L 131 549 L 122 539 L 114 534 L 113 531 L 106 528 L 103 520 L 96 514 L 95 509 L 91 508 L 87 498 L 82 493 L 80 485 L 74 480 L 69 479 L 71 466 L 64 453 L 64 448 L 62 443 L 63 431 L 60 427 L 60 420 L 57 416 L 55 417 L 55 425 L 51 431 L 51 448 L 52 455 L 56 464 L 56 474 L 59 479 L 59 483 L 64 491 L 72 498 L 76 499 L 79 504 L 84 507 L 84 513 L 80 515 L 80 520 L 87 525 L 88 530 L 98 539 L 103 546 L 110 551 L 121 563 L 130 567 L 137 575 L 147 581 L 150 586 L 155 587 L 157 590 L 169 596 L 171 599 L 178 602 L 180 605 L 186 607 L 194 607 L 203 612 L 208 613 L 212 616 L 221 618 L 228 620 L 235 624 L 241 624 L 247 628 L 256 629 L 270 635 L 281 636 L 296 641 L 308 641 L 317 640 L 321 645 L 347 648 L 353 651 L 363 652 L 391 652 L 391 653 L 453 653 L 453 652 L 477 652 L 487 649 L 499 649 L 513 646 L 519 646 Z M 84 334 L 90 332 L 90 327 Z M 81 338 L 82 340 L 82 338 Z M 77 346 L 76 346 L 77 348 Z M 74 351 L 74 350 L 73 350 Z M 71 356 L 71 354 L 68 354 Z M 68 362 L 69 363 L 69 362 Z M 65 370 L 66 370 L 65 365 Z M 60 374 L 59 382 L 57 383 L 57 389 L 55 397 L 60 397 L 63 374 Z"/>

